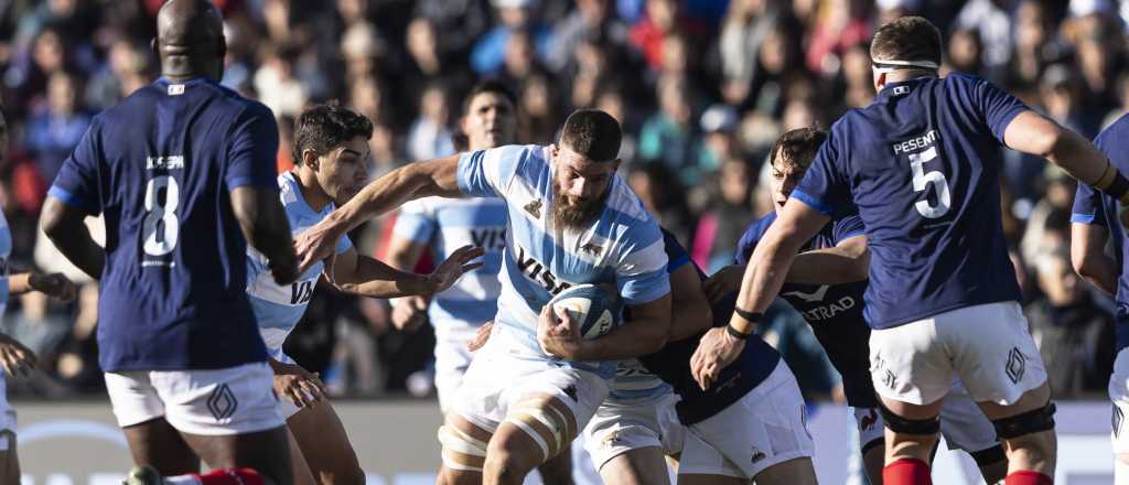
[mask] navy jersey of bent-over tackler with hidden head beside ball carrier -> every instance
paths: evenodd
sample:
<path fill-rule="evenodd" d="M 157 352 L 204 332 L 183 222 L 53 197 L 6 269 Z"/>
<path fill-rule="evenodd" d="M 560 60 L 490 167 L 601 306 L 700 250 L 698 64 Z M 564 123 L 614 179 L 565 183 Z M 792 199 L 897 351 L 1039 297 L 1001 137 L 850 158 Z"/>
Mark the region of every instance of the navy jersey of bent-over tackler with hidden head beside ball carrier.
<path fill-rule="evenodd" d="M 663 242 L 666 245 L 668 273 L 674 273 L 684 265 L 694 264 L 690 261 L 690 254 L 686 253 L 686 249 L 666 229 L 663 229 Z M 694 264 L 694 270 L 698 271 L 698 277 L 704 281 L 706 273 L 702 273 L 697 264 Z M 712 326 L 729 325 L 729 317 L 733 316 L 733 309 L 736 305 L 737 293 L 715 303 Z M 679 412 L 679 421 L 688 426 L 706 420 L 739 400 L 768 378 L 780 362 L 780 354 L 777 353 L 776 349 L 764 343 L 761 337 L 751 336 L 737 360 L 721 369 L 717 381 L 709 389 L 702 390 L 690 373 L 690 358 L 698 350 L 703 334 L 704 332 L 690 338 L 669 342 L 658 352 L 639 358 L 644 368 L 669 383 L 674 391 L 682 397 L 675 408 Z"/>

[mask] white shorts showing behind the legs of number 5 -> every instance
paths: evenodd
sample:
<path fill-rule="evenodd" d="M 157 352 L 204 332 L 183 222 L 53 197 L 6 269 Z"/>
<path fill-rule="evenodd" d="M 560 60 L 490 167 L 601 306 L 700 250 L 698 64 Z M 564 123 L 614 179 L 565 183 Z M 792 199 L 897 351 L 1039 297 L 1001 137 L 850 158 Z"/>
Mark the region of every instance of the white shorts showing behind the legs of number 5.
<path fill-rule="evenodd" d="M 860 449 L 865 453 L 875 446 L 883 444 L 882 413 L 876 407 L 856 407 L 855 422 L 858 424 Z M 980 406 L 969 397 L 960 380 L 940 405 L 940 434 L 951 450 L 964 450 L 970 455 L 991 449 L 999 444 L 996 426 L 988 420 Z"/>

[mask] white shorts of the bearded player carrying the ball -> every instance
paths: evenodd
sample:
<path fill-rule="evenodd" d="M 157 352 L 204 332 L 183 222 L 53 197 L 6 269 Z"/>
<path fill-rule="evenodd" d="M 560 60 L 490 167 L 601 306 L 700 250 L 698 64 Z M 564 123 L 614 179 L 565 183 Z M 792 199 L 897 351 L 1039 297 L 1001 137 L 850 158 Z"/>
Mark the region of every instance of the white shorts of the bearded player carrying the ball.
<path fill-rule="evenodd" d="M 490 341 L 479 349 L 463 377 L 452 412 L 493 433 L 511 405 L 551 395 L 576 417 L 577 432 L 583 430 L 607 397 L 607 382 L 585 370 L 511 353 L 520 344 L 509 332 L 495 327 Z"/>

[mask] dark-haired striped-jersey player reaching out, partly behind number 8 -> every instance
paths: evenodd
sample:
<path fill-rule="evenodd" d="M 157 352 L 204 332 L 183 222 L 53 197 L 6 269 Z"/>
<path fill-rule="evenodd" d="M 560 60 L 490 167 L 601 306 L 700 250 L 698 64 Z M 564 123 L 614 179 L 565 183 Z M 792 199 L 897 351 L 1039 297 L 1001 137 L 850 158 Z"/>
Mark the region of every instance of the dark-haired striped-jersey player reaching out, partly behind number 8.
<path fill-rule="evenodd" d="M 297 167 L 278 176 L 279 196 L 292 233 L 317 223 L 335 204 L 348 202 L 365 186 L 371 135 L 368 118 L 338 105 L 313 106 L 298 116 L 294 133 Z M 362 297 L 428 296 L 479 267 L 481 263 L 469 263 L 481 255 L 471 246 L 457 248 L 435 273 L 421 275 L 359 255 L 349 238 L 342 237 L 329 264 L 318 262 L 298 281 L 280 285 L 268 271 L 266 257 L 253 248 L 247 250 L 247 294 L 274 370 L 274 390 L 283 397 L 279 413 L 290 430 L 296 483 L 365 483 L 341 420 L 329 402 L 323 402 L 324 383 L 282 352 L 323 270 L 340 290 Z"/>

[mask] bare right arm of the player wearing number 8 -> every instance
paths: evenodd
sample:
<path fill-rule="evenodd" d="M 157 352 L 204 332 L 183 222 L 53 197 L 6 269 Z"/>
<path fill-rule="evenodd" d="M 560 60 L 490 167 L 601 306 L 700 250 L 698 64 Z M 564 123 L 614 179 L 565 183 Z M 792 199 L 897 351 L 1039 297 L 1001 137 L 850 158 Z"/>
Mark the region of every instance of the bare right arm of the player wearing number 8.
<path fill-rule="evenodd" d="M 295 282 L 299 275 L 298 257 L 278 191 L 254 185 L 235 187 L 231 210 L 247 244 L 266 256 L 274 281 L 279 284 Z"/>

